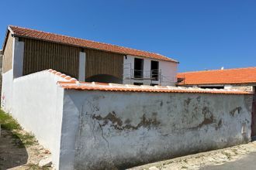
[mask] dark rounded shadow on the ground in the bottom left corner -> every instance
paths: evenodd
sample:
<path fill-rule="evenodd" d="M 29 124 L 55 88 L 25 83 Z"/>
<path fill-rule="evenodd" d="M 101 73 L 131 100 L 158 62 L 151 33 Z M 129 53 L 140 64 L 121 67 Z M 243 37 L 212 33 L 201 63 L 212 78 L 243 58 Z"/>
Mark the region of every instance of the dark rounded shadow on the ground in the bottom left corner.
<path fill-rule="evenodd" d="M 2 130 L 0 136 L 0 169 L 26 164 L 28 153 L 22 141 L 11 131 Z"/>

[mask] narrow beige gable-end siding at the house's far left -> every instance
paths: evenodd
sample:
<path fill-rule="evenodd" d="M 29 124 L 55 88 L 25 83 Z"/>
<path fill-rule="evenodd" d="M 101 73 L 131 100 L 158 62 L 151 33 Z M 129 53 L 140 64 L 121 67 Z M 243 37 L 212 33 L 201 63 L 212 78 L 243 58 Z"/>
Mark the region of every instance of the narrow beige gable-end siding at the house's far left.
<path fill-rule="evenodd" d="M 12 69 L 12 46 L 13 37 L 9 32 L 8 39 L 5 45 L 4 58 L 3 58 L 3 73 Z"/>

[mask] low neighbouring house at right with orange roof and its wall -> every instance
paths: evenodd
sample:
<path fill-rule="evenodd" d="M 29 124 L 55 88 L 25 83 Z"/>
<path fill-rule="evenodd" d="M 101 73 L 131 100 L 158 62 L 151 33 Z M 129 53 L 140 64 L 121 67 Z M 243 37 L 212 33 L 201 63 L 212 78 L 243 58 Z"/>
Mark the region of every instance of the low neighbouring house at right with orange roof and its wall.
<path fill-rule="evenodd" d="M 205 70 L 177 74 L 177 86 L 245 90 L 254 93 L 252 137 L 256 138 L 256 67 Z"/>

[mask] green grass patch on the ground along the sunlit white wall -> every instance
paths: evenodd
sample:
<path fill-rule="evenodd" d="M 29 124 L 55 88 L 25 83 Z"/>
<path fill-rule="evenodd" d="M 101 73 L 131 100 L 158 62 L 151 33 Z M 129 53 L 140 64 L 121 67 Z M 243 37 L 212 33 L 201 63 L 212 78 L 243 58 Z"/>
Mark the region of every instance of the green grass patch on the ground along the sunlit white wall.
<path fill-rule="evenodd" d="M 22 131 L 22 127 L 19 123 L 13 119 L 10 114 L 6 114 L 3 110 L 0 110 L 0 124 L 2 129 L 12 132 L 12 143 L 17 145 L 19 148 L 36 143 L 36 138 L 33 134 Z"/>

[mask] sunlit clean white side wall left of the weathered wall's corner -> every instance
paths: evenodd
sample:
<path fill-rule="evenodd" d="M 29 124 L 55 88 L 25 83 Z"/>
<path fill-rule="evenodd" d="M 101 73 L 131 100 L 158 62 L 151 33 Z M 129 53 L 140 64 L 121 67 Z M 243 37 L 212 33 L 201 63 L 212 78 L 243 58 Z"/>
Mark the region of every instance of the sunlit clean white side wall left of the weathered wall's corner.
<path fill-rule="evenodd" d="M 50 149 L 54 165 L 59 166 L 64 81 L 48 71 L 21 76 L 13 81 L 12 116 L 41 145 Z"/>

